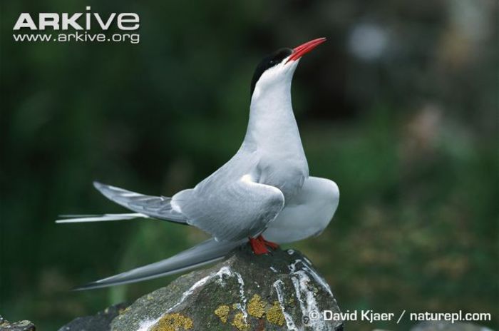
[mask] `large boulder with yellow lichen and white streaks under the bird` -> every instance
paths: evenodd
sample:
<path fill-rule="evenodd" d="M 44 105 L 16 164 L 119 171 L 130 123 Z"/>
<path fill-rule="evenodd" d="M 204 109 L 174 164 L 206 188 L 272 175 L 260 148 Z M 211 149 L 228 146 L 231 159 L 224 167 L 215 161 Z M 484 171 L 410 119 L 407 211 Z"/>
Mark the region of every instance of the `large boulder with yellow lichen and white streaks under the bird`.
<path fill-rule="evenodd" d="M 254 255 L 243 246 L 212 268 L 183 275 L 136 300 L 113 331 L 343 330 L 342 321 L 311 319 L 339 312 L 329 285 L 294 250 Z"/>

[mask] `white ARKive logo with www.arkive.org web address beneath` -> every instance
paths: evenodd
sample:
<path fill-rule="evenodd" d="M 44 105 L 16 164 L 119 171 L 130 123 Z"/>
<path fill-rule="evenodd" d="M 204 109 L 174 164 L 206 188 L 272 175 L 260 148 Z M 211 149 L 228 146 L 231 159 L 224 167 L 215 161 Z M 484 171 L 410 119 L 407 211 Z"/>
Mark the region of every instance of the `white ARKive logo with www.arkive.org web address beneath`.
<path fill-rule="evenodd" d="M 86 6 L 83 13 L 21 13 L 14 31 L 29 31 L 29 34 L 13 34 L 14 41 L 128 41 L 138 44 L 139 34 L 130 34 L 140 28 L 140 16 L 136 13 L 110 13 L 108 15 L 91 11 Z M 110 29 L 125 31 L 106 36 L 105 31 Z M 101 30 L 101 33 L 92 34 L 89 31 Z M 37 34 L 33 31 L 58 31 L 58 34 Z M 68 33 L 68 31 L 74 31 Z"/>

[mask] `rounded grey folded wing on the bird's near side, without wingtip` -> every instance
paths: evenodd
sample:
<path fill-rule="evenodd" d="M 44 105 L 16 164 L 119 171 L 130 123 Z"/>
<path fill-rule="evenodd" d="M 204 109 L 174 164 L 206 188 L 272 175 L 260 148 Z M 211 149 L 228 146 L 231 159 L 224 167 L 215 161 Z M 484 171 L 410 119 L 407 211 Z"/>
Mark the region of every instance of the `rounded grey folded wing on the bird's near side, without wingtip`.
<path fill-rule="evenodd" d="M 281 190 L 255 183 L 249 175 L 223 185 L 184 192 L 173 196 L 173 204 L 187 217 L 187 223 L 222 241 L 261 233 L 284 207 Z"/>

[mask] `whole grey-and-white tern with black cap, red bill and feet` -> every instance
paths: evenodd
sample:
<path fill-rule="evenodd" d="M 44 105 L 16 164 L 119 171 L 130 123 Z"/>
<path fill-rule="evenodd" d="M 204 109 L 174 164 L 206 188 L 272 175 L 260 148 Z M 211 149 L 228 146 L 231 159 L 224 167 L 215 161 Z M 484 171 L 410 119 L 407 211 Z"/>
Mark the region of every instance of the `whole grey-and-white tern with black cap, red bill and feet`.
<path fill-rule="evenodd" d="M 145 265 L 78 290 L 148 280 L 220 260 L 249 242 L 254 254 L 279 244 L 319 235 L 339 202 L 334 181 L 309 176 L 291 101 L 292 77 L 300 58 L 326 41 L 314 39 L 266 56 L 254 71 L 249 123 L 230 161 L 195 188 L 171 198 L 143 195 L 102 183 L 106 198 L 134 213 L 68 215 L 57 223 L 156 218 L 195 226 L 212 238 L 166 260 Z"/>

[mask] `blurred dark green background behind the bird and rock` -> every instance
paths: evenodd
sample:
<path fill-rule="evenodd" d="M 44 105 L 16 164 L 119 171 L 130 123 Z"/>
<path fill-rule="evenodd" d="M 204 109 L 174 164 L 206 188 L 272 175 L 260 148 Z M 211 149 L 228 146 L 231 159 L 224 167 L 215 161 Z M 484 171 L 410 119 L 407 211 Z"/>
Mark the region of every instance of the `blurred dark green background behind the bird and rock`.
<path fill-rule="evenodd" d="M 13 41 L 21 12 L 85 6 L 138 13 L 140 44 Z M 200 231 L 53 220 L 123 212 L 93 180 L 163 195 L 195 185 L 240 146 L 259 60 L 326 36 L 293 102 L 310 173 L 341 199 L 319 238 L 292 247 L 342 310 L 490 312 L 482 324 L 497 328 L 497 18 L 495 0 L 3 1 L 0 314 L 56 330 L 167 285 L 68 291 Z"/>

